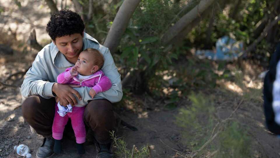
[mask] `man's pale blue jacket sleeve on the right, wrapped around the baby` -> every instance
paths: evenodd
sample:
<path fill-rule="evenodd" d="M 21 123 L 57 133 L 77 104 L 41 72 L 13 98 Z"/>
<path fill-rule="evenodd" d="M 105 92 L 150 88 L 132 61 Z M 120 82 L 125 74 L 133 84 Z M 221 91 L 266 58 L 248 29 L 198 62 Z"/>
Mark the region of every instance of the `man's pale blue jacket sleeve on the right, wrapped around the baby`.
<path fill-rule="evenodd" d="M 119 102 L 122 99 L 122 83 L 120 80 L 120 74 L 118 73 L 118 69 L 115 66 L 109 49 L 101 45 L 100 52 L 103 54 L 105 59 L 101 70 L 103 71 L 104 75 L 106 75 L 111 80 L 112 86 L 105 92 L 97 93 L 93 99 L 105 98 L 111 103 Z M 83 95 L 81 101 L 77 100 L 78 104 L 88 104 L 88 101 L 92 100 L 92 97 L 89 95 L 89 87 L 78 87 L 74 89 Z"/>

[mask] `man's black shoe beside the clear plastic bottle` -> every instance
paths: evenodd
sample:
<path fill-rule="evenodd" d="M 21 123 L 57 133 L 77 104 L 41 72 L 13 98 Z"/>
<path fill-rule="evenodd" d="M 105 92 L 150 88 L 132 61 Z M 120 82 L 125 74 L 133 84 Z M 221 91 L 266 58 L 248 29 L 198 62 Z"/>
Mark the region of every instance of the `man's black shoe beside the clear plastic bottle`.
<path fill-rule="evenodd" d="M 50 138 L 44 138 L 43 144 L 41 147 L 38 148 L 36 152 L 36 157 L 37 158 L 50 158 L 55 155 L 53 152 L 53 146 L 55 144 L 55 140 L 50 137 Z"/>

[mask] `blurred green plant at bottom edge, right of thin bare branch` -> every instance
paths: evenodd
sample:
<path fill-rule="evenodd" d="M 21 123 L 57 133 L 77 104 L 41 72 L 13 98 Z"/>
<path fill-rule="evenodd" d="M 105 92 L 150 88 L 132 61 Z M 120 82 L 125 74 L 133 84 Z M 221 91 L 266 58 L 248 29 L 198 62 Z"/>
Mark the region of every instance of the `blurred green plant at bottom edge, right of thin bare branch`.
<path fill-rule="evenodd" d="M 237 122 L 232 122 L 218 139 L 217 158 L 251 157 L 251 138 Z"/>

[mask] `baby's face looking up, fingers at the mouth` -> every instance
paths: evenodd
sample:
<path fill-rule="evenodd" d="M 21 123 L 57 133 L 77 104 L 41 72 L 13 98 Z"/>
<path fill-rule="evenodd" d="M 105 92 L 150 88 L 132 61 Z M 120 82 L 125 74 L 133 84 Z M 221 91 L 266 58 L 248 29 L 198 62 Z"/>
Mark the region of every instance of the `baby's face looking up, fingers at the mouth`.
<path fill-rule="evenodd" d="M 81 75 L 91 75 L 93 66 L 95 66 L 92 54 L 82 51 L 75 66 L 77 66 L 76 71 L 78 71 Z"/>

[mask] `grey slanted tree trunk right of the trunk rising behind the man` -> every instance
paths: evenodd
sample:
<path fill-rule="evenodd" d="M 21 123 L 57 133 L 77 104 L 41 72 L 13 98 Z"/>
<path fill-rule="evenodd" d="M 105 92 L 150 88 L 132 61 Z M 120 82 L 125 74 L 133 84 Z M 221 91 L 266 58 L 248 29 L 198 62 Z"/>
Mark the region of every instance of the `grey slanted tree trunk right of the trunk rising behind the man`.
<path fill-rule="evenodd" d="M 201 0 L 197 6 L 185 14 L 167 33 L 162 37 L 163 43 L 168 44 L 176 35 L 181 33 L 184 28 L 196 18 L 201 18 L 203 13 L 215 0 Z"/>

